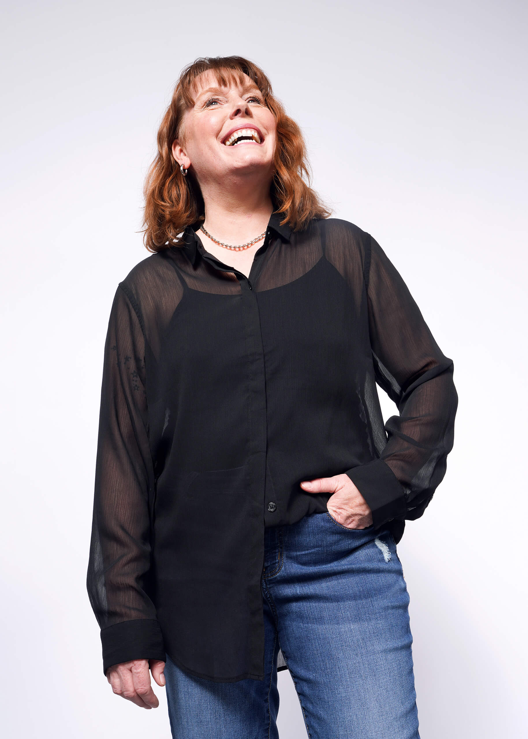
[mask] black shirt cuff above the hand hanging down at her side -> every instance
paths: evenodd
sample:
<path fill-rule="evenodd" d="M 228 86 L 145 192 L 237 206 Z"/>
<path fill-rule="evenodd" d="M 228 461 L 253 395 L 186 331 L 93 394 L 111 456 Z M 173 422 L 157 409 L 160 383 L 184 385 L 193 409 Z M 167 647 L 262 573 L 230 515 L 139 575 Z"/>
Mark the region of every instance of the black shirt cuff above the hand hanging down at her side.
<path fill-rule="evenodd" d="M 121 664 L 131 659 L 166 660 L 163 636 L 155 619 L 122 621 L 101 629 L 103 644 L 103 671 L 112 664 Z"/>

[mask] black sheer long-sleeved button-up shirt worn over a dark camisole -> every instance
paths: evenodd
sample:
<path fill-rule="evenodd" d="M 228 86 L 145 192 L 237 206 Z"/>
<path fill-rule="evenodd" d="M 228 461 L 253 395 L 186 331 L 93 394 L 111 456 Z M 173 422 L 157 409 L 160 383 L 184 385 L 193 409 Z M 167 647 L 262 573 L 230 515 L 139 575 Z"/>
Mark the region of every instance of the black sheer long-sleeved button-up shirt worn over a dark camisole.
<path fill-rule="evenodd" d="M 115 293 L 87 587 L 105 672 L 168 653 L 261 680 L 265 527 L 326 511 L 299 483 L 346 473 L 399 542 L 444 477 L 453 362 L 355 225 L 292 232 L 273 214 L 249 277 L 195 229 Z"/>

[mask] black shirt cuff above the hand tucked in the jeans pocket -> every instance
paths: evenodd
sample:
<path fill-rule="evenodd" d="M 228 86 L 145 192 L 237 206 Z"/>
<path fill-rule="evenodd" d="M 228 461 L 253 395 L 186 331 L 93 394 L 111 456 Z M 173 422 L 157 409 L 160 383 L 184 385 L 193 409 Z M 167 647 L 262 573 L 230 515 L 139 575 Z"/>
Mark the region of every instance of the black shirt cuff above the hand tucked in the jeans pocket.
<path fill-rule="evenodd" d="M 405 490 L 396 475 L 381 459 L 353 467 L 345 472 L 365 498 L 372 511 L 374 528 L 393 518 L 405 518 Z"/>

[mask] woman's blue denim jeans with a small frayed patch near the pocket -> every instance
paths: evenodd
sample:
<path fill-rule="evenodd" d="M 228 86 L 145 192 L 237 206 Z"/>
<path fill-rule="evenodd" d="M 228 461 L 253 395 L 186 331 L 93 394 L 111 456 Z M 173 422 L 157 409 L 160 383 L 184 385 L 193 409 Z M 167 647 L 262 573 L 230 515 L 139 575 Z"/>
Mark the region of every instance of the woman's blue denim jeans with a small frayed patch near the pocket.
<path fill-rule="evenodd" d="M 215 683 L 167 655 L 177 739 L 277 739 L 279 646 L 310 739 L 419 739 L 409 595 L 386 529 L 328 513 L 265 530 L 265 679 Z"/>

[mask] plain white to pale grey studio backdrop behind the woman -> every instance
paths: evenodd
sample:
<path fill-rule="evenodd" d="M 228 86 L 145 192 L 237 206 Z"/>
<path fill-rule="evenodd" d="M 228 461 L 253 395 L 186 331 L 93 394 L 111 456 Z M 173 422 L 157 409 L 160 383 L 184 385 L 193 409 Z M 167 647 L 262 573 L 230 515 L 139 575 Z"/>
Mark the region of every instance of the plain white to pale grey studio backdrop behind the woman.
<path fill-rule="evenodd" d="M 524 735 L 526 21 L 520 0 L 4 3 L 5 737 L 170 736 L 163 689 L 149 712 L 112 694 L 85 590 L 103 349 L 177 75 L 228 54 L 268 73 L 314 187 L 455 364 L 447 474 L 398 545 L 422 739 Z M 281 737 L 305 738 L 279 684 Z"/>

